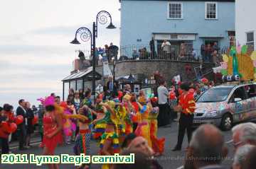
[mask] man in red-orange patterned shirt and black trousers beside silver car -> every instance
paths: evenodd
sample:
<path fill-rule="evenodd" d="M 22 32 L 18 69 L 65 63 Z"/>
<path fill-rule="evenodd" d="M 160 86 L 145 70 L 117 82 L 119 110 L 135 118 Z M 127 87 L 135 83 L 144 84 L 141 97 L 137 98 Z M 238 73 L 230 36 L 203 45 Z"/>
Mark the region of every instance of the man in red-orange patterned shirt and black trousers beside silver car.
<path fill-rule="evenodd" d="M 180 151 L 185 131 L 188 135 L 188 144 L 191 141 L 192 125 L 193 125 L 193 112 L 196 110 L 196 102 L 193 98 L 193 93 L 189 93 L 189 83 L 182 83 L 178 106 L 175 107 L 177 112 L 181 112 L 181 117 L 178 121 L 178 142 L 173 151 Z"/>

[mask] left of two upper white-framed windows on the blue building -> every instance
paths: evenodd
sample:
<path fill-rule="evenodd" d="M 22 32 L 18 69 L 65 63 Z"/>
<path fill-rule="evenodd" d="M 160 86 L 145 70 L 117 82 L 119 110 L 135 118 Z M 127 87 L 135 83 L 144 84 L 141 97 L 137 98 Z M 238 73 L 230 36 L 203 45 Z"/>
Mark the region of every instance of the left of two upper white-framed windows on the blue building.
<path fill-rule="evenodd" d="M 169 19 L 182 19 L 183 6 L 182 3 L 169 2 L 168 3 L 168 18 Z"/>

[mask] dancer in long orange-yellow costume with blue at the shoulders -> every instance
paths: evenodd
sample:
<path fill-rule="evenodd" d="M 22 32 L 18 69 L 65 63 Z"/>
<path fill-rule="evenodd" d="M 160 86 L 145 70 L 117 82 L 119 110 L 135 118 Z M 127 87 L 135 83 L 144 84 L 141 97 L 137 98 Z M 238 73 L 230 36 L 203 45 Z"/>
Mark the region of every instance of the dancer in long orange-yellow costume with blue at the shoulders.
<path fill-rule="evenodd" d="M 138 122 L 138 126 L 137 129 L 135 130 L 135 134 L 137 136 L 144 137 L 144 139 L 148 141 L 149 146 L 152 147 L 149 128 L 149 112 L 151 112 L 151 108 L 149 105 L 147 105 L 145 96 L 139 96 L 138 105 L 139 113 L 135 115 L 135 121 Z"/>

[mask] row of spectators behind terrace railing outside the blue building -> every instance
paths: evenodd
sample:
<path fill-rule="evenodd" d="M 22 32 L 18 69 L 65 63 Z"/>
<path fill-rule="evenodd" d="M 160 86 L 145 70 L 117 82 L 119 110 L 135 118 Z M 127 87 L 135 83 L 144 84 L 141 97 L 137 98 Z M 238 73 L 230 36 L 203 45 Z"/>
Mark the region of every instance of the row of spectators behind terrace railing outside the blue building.
<path fill-rule="evenodd" d="M 132 51 L 129 53 L 129 51 Z M 181 43 L 180 45 L 171 45 L 168 40 L 164 42 L 157 49 L 157 53 L 154 47 L 144 46 L 141 48 L 132 47 L 121 49 L 120 60 L 138 60 L 138 59 L 171 59 L 171 60 L 186 60 L 196 62 L 213 62 L 216 66 L 220 65 L 220 47 L 218 43 L 214 42 L 213 45 L 201 45 L 201 49 L 194 49 L 191 44 Z M 128 54 L 128 53 L 129 54 Z M 126 56 L 127 55 L 127 56 Z"/>

